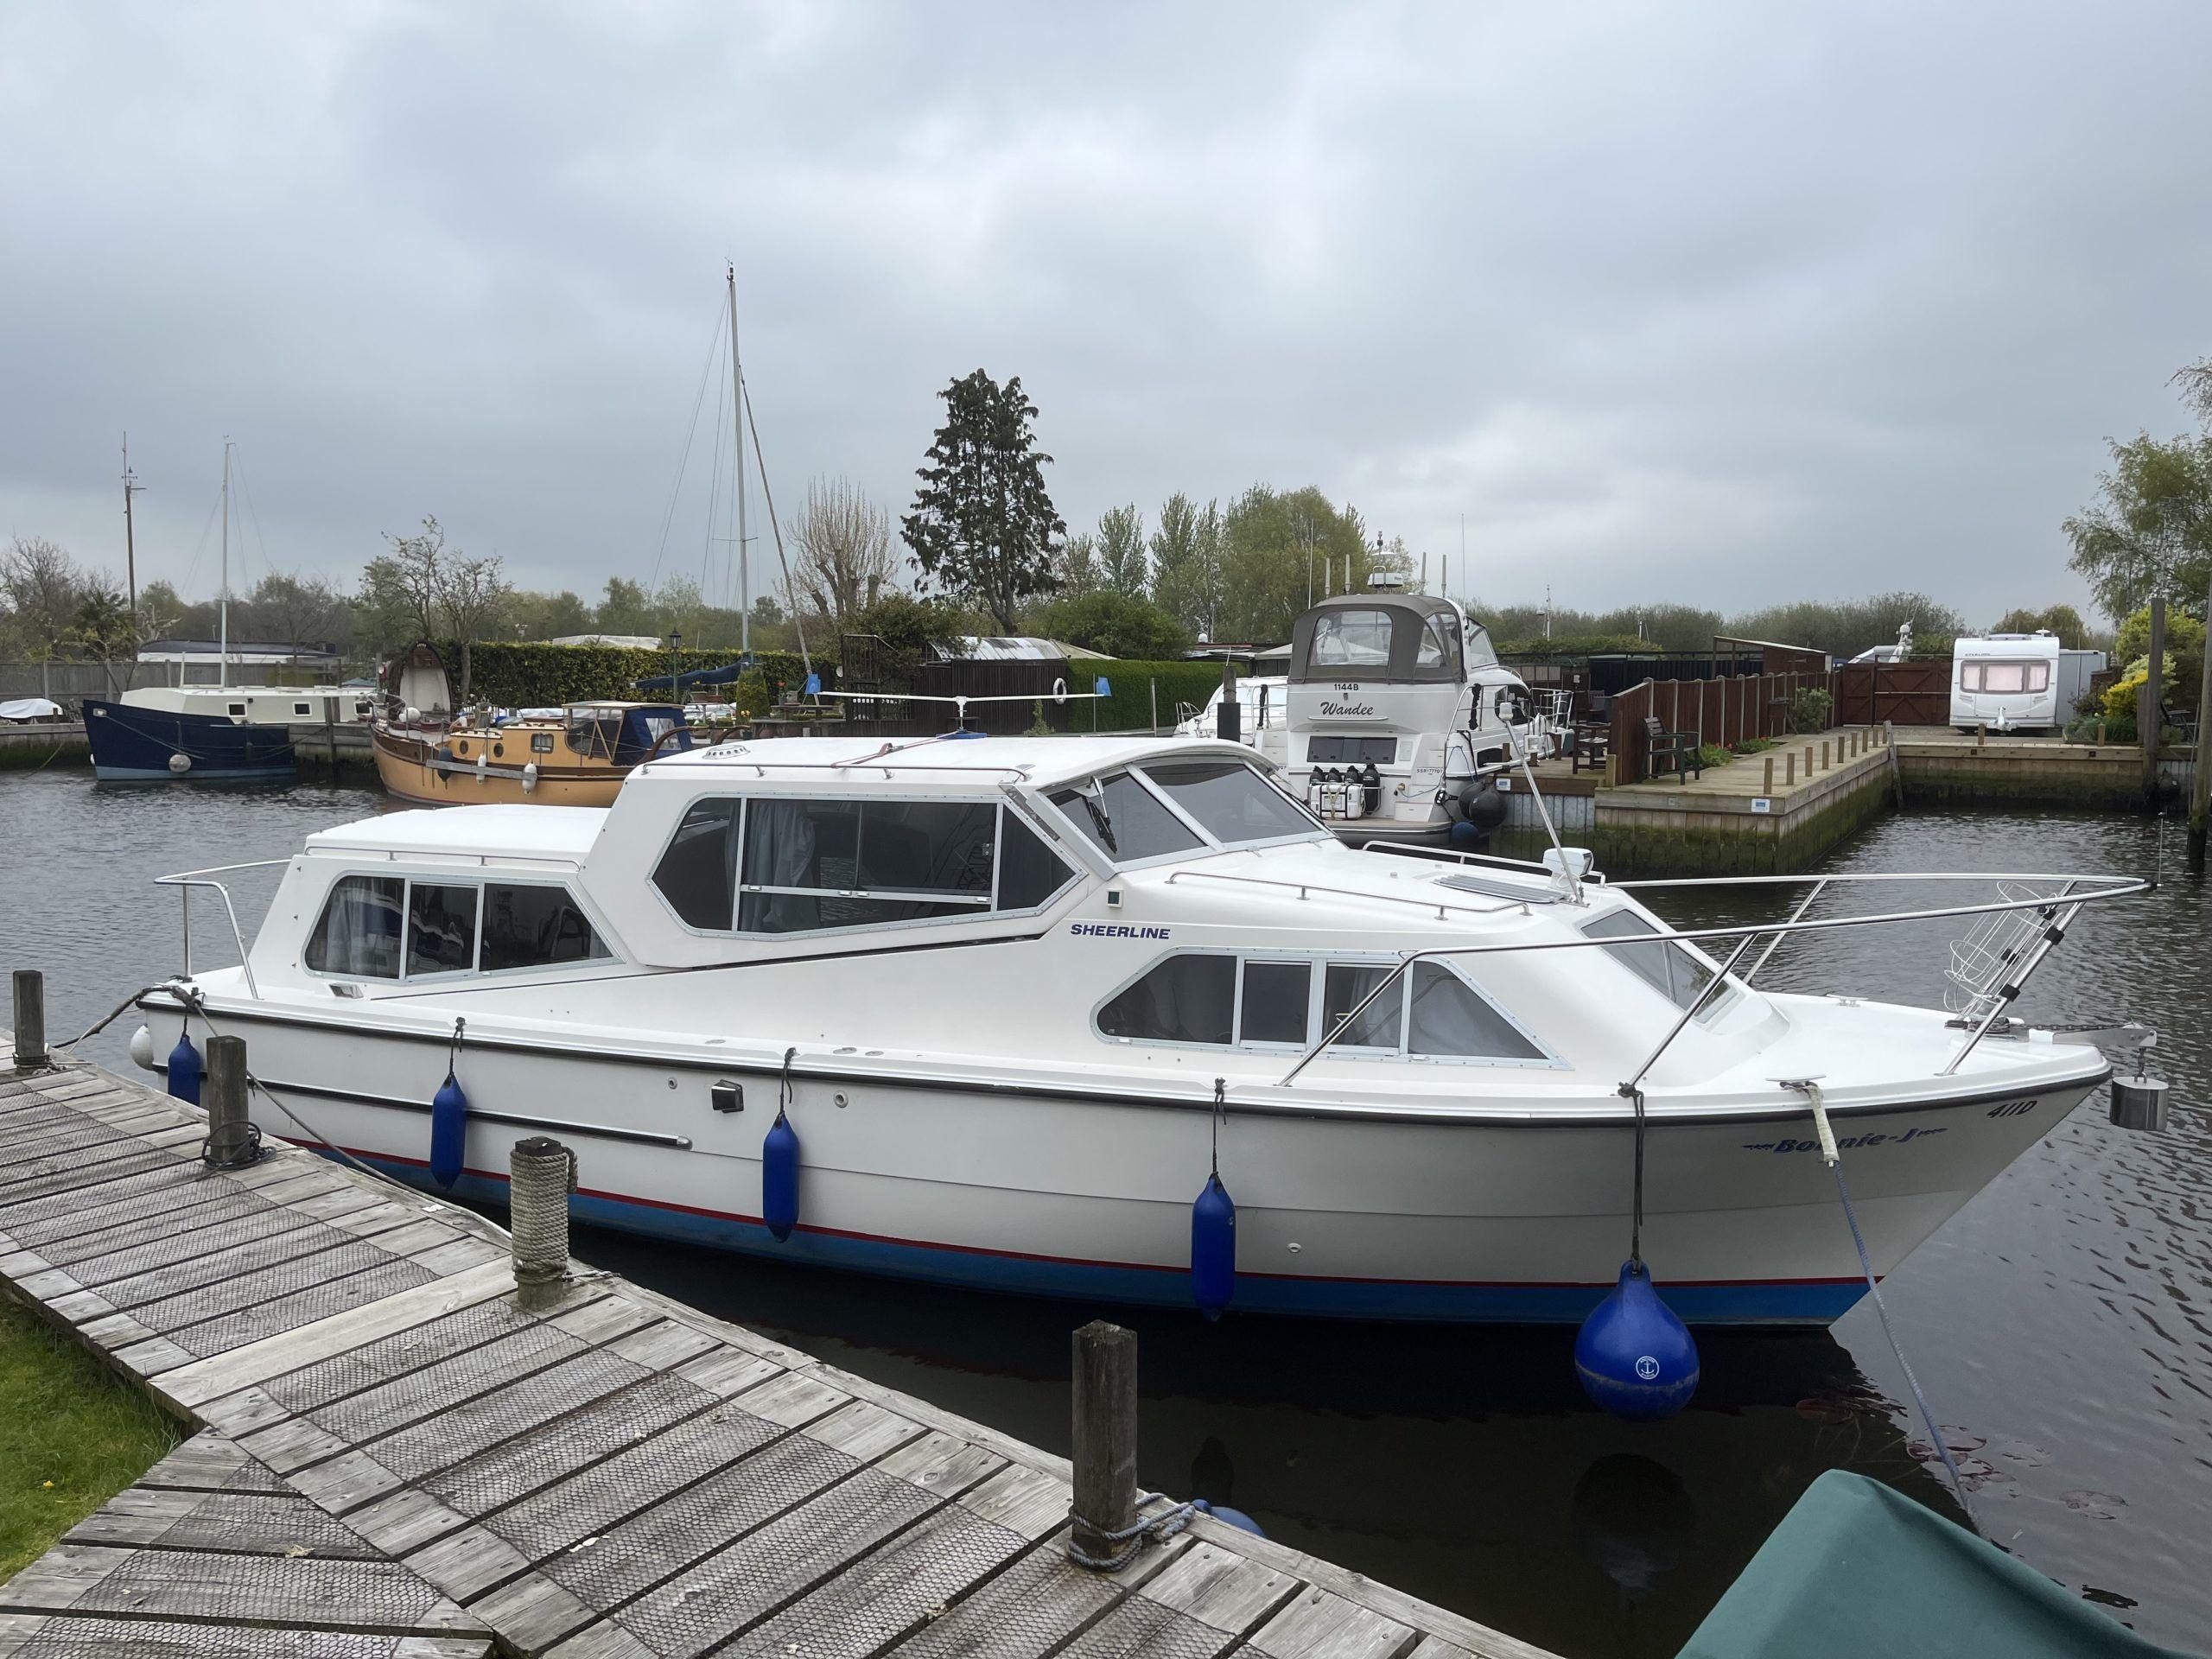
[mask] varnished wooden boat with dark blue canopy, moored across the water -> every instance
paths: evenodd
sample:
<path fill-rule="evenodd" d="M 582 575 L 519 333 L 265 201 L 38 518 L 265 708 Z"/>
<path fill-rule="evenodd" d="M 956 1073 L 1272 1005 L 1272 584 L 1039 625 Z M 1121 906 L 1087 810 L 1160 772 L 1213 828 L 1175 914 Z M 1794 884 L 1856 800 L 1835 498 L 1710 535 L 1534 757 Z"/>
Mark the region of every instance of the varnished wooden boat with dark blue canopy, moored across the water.
<path fill-rule="evenodd" d="M 672 703 L 568 703 L 507 721 L 380 719 L 372 737 L 385 790 L 434 807 L 606 807 L 633 770 L 692 745 Z"/>

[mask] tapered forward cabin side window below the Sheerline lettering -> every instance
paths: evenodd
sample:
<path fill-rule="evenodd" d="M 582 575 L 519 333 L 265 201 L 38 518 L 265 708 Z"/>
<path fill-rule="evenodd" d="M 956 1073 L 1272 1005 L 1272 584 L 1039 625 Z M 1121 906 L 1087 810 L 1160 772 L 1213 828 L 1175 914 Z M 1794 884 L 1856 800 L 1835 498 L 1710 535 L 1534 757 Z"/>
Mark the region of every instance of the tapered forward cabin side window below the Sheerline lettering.
<path fill-rule="evenodd" d="M 1097 1011 L 1097 1029 L 1121 1042 L 1296 1051 L 1383 987 L 1332 1051 L 1553 1064 L 1542 1044 L 1442 962 L 1416 962 L 1391 978 L 1394 967 L 1181 951 L 1110 995 Z"/>

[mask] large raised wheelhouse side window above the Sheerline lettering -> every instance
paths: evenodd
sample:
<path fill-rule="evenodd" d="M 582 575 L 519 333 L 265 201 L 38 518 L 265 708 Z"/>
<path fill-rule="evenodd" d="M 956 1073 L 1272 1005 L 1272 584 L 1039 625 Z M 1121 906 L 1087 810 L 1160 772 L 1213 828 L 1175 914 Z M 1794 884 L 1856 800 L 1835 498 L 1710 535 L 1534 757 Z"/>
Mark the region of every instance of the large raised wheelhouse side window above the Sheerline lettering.
<path fill-rule="evenodd" d="M 710 933 L 1026 911 L 1071 878 L 998 801 L 697 801 L 653 869 L 668 907 Z"/>

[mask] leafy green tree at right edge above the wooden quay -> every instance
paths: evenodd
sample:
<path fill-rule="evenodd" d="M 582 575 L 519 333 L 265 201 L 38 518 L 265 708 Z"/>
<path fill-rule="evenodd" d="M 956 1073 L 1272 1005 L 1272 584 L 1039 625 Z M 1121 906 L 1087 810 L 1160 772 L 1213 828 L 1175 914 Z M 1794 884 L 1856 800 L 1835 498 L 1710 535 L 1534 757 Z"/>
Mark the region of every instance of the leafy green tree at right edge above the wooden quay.
<path fill-rule="evenodd" d="M 2212 575 L 2212 431 L 2170 442 L 2139 431 L 2110 449 L 2097 500 L 2066 520 L 2073 568 L 2115 622 L 2154 597 L 2201 608 Z"/>

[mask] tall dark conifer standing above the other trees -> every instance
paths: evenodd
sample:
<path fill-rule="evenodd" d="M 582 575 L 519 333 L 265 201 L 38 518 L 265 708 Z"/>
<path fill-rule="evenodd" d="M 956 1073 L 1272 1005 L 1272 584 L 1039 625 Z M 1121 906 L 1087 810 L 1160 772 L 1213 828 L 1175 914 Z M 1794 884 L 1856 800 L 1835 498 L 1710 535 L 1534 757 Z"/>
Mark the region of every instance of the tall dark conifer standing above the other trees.
<path fill-rule="evenodd" d="M 975 369 L 945 387 L 945 425 L 900 520 L 925 588 L 989 611 L 1002 633 L 1024 599 L 1053 591 L 1068 533 L 1044 489 L 1053 458 L 1037 449 L 1035 418 L 1022 376 L 998 385 Z"/>

